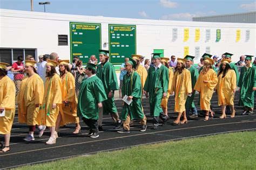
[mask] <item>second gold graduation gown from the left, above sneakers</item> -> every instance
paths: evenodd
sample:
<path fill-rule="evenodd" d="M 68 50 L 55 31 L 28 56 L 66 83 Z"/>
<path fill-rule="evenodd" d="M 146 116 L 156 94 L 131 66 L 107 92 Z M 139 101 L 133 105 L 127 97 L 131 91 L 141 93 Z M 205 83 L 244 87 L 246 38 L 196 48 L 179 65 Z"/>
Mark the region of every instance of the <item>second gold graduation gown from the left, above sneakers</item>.
<path fill-rule="evenodd" d="M 27 125 L 36 125 L 36 117 L 39 107 L 42 105 L 44 94 L 44 82 L 38 74 L 31 77 L 24 77 L 17 96 L 18 101 L 18 122 Z"/>

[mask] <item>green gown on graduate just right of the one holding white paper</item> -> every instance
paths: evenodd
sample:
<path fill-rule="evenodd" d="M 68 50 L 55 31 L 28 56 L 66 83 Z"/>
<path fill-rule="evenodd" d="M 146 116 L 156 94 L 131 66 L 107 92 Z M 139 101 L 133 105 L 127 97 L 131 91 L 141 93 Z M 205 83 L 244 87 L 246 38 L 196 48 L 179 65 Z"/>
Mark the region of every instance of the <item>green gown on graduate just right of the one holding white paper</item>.
<path fill-rule="evenodd" d="M 167 67 L 161 65 L 157 70 L 154 67 L 149 68 L 144 90 L 149 92 L 151 116 L 159 116 L 160 112 L 163 112 L 160 104 L 163 93 L 167 93 L 168 82 L 169 70 Z"/>

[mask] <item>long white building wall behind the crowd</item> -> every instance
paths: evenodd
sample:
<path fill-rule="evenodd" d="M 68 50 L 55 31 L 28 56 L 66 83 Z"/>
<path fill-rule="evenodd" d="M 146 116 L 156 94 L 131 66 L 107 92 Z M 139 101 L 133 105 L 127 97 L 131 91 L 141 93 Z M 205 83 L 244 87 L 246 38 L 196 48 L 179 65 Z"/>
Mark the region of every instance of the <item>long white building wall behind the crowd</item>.
<path fill-rule="evenodd" d="M 204 23 L 179 22 L 169 20 L 146 20 L 128 18 L 109 18 L 61 15 L 30 11 L 14 11 L 0 9 L 0 47 L 1 48 L 36 48 L 37 54 L 57 52 L 61 59 L 70 59 L 70 40 L 68 46 L 58 46 L 58 34 L 68 34 L 69 22 L 101 23 L 102 48 L 108 49 L 108 24 L 129 24 L 137 26 L 137 54 L 150 58 L 153 49 L 164 49 L 165 56 L 176 55 L 183 58 L 184 46 L 189 46 L 190 55 L 194 48 L 200 47 L 200 55 L 210 46 L 211 54 L 221 56 L 222 53 L 234 54 L 232 60 L 238 61 L 242 54 L 255 55 L 255 24 L 239 23 Z M 172 41 L 172 29 L 178 29 L 178 38 Z M 190 38 L 183 42 L 184 29 L 190 30 Z M 195 29 L 200 29 L 200 40 L 194 42 Z M 205 30 L 211 29 L 211 39 L 205 42 Z M 221 40 L 215 42 L 216 29 L 221 29 Z M 241 39 L 235 42 L 236 30 L 241 30 Z M 250 40 L 245 42 L 245 32 L 250 30 Z M 195 62 L 199 62 L 196 58 Z"/>

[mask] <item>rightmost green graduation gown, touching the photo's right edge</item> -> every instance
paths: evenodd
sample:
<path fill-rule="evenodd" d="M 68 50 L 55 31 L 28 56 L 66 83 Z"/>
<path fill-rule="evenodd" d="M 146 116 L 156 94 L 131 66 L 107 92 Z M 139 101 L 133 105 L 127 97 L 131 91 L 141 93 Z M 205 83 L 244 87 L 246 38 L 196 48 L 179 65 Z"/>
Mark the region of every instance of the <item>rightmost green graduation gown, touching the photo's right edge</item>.
<path fill-rule="evenodd" d="M 241 68 L 238 87 L 240 87 L 239 103 L 240 106 L 246 106 L 249 108 L 254 107 L 254 91 L 253 87 L 256 87 L 256 67 L 252 65 L 248 69 L 246 66 Z"/>

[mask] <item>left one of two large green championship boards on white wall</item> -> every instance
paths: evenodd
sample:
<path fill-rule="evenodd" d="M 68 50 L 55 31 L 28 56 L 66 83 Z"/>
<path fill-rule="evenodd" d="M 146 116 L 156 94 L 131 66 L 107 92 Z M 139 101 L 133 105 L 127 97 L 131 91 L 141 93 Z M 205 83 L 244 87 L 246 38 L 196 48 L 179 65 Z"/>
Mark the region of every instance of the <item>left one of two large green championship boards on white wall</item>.
<path fill-rule="evenodd" d="M 101 49 L 101 24 L 70 22 L 70 62 L 77 55 L 85 65 L 91 55 L 98 54 Z"/>

